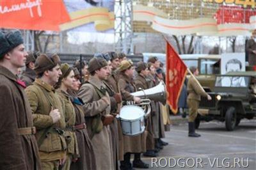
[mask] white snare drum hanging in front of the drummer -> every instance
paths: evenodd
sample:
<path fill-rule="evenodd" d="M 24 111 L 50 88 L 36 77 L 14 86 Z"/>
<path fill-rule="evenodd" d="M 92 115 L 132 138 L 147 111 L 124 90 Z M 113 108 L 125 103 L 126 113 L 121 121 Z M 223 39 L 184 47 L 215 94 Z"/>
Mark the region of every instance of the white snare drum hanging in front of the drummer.
<path fill-rule="evenodd" d="M 119 119 L 124 135 L 139 135 L 145 131 L 145 112 L 136 105 L 125 105 L 120 110 Z"/>

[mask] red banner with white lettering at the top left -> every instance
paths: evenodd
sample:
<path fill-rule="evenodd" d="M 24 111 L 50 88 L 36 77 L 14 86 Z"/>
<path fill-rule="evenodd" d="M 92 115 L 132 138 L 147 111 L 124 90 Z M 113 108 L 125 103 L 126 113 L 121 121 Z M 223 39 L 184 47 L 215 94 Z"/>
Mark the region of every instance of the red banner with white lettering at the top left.
<path fill-rule="evenodd" d="M 70 17 L 62 0 L 1 0 L 0 27 L 60 31 Z"/>

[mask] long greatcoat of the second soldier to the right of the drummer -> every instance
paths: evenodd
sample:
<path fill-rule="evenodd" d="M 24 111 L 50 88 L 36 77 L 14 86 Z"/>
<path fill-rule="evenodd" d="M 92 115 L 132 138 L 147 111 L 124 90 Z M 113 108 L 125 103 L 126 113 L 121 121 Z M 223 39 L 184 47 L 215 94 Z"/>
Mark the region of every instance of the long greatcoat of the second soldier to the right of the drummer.
<path fill-rule="evenodd" d="M 148 75 L 148 78 L 153 82 L 153 87 L 159 84 L 159 81 L 154 77 L 154 75 Z M 163 115 L 161 113 L 159 102 L 154 102 L 152 112 L 152 124 L 154 130 L 154 138 L 159 139 L 164 137 L 164 123 Z"/>

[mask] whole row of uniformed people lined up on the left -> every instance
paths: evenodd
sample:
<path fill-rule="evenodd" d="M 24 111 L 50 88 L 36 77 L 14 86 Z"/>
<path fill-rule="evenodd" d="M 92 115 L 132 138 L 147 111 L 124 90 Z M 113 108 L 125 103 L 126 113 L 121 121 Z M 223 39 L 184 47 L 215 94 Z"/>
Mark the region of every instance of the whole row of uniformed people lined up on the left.
<path fill-rule="evenodd" d="M 151 101 L 140 135 L 124 135 L 116 116 L 127 101 L 141 103 L 131 93 L 160 81 L 156 57 L 133 65 L 106 52 L 68 65 L 26 52 L 19 31 L 0 33 L 0 169 L 148 168 L 141 155 L 157 157 L 168 144 L 168 107 Z"/>

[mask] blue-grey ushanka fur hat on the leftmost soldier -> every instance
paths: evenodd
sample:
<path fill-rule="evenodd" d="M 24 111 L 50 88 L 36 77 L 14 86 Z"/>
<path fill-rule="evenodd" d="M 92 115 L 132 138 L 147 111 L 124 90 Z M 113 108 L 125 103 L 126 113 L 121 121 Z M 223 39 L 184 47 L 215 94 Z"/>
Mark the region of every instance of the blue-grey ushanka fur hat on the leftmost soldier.
<path fill-rule="evenodd" d="M 0 59 L 4 54 L 24 43 L 20 31 L 0 32 Z"/>

